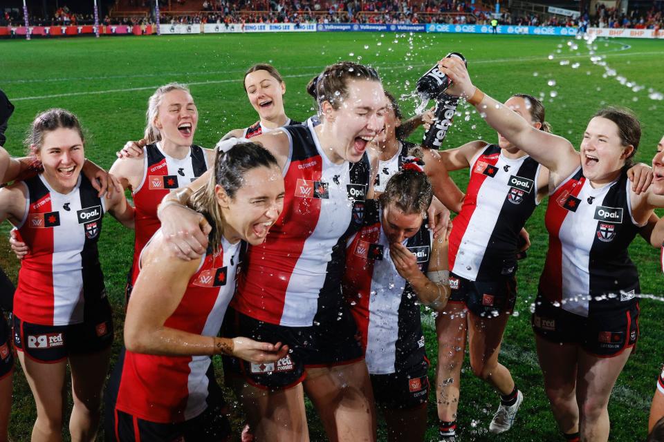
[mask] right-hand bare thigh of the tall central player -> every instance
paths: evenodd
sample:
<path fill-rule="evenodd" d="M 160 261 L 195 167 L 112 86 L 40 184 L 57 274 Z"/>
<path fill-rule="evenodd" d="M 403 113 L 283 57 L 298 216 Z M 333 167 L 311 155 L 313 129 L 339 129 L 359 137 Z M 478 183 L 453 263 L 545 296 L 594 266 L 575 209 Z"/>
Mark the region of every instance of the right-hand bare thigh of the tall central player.
<path fill-rule="evenodd" d="M 331 442 L 375 441 L 376 407 L 365 361 L 307 368 L 304 391 Z"/>

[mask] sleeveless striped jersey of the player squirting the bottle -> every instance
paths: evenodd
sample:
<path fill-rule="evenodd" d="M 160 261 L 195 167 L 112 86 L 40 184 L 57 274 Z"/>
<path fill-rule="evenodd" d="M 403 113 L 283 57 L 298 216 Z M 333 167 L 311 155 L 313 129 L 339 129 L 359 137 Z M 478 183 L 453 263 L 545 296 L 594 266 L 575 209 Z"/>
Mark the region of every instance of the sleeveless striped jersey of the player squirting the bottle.
<path fill-rule="evenodd" d="M 643 224 L 631 215 L 627 173 L 593 189 L 579 167 L 549 196 L 545 222 L 540 294 L 580 316 L 636 302 L 638 272 L 627 247 Z"/>

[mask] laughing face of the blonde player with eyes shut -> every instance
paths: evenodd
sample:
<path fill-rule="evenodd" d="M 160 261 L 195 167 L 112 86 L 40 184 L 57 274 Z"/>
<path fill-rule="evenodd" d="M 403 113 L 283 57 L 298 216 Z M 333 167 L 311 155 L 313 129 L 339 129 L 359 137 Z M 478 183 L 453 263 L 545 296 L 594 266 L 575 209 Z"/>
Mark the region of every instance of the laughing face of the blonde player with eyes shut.
<path fill-rule="evenodd" d="M 191 146 L 198 123 L 199 111 L 190 93 L 174 89 L 164 94 L 154 119 L 154 125 L 159 129 L 162 140 L 176 146 Z"/>

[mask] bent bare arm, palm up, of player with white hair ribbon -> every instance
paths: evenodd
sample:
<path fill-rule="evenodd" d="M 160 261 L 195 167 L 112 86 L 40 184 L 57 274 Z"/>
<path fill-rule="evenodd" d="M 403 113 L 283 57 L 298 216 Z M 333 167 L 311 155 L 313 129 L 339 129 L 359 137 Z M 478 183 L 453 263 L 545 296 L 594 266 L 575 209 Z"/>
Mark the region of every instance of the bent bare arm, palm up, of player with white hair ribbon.
<path fill-rule="evenodd" d="M 142 258 L 124 321 L 124 345 L 128 350 L 163 356 L 227 354 L 255 363 L 285 356 L 288 347 L 280 343 L 201 336 L 166 327 L 167 318 L 180 304 L 200 262 L 179 260 L 172 253 L 164 253 L 164 246 L 163 236 L 158 234 Z"/>

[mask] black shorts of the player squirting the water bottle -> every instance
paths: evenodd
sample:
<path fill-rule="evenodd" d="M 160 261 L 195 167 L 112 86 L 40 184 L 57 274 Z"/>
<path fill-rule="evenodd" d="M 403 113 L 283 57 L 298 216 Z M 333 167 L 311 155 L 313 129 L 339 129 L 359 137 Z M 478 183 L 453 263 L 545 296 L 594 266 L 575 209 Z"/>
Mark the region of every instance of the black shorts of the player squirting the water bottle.
<path fill-rule="evenodd" d="M 636 345 L 638 302 L 585 318 L 538 296 L 531 323 L 535 334 L 549 342 L 580 345 L 589 354 L 610 358 Z"/>

